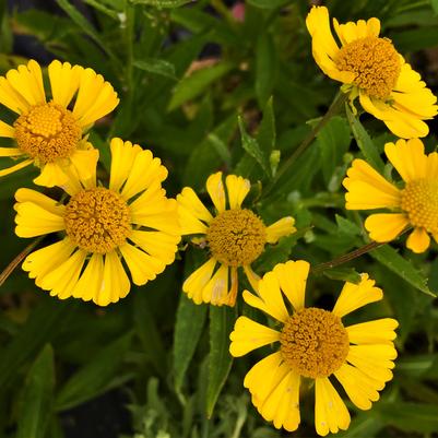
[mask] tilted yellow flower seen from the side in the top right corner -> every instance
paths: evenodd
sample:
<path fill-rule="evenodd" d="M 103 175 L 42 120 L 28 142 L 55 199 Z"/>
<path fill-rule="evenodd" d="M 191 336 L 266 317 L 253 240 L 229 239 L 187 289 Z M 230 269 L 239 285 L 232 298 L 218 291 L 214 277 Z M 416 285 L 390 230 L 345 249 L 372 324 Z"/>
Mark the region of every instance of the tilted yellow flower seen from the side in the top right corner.
<path fill-rule="evenodd" d="M 345 84 L 342 90 L 351 102 L 358 96 L 362 107 L 400 138 L 427 135 L 428 127 L 422 120 L 437 115 L 437 98 L 391 40 L 379 37 L 378 19 L 346 24 L 333 19 L 341 48 L 325 7 L 313 7 L 306 24 L 316 62 L 329 78 Z"/>

